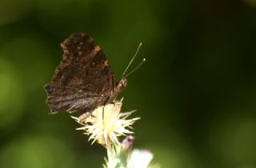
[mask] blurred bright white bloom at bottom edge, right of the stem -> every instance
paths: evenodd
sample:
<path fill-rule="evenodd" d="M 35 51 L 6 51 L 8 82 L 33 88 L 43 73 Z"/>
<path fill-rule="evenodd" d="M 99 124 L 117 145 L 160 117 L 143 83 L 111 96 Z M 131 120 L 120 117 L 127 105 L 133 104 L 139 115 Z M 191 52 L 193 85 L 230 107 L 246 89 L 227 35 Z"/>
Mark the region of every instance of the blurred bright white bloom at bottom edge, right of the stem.
<path fill-rule="evenodd" d="M 147 168 L 152 159 L 153 154 L 149 150 L 132 150 L 127 168 Z"/>

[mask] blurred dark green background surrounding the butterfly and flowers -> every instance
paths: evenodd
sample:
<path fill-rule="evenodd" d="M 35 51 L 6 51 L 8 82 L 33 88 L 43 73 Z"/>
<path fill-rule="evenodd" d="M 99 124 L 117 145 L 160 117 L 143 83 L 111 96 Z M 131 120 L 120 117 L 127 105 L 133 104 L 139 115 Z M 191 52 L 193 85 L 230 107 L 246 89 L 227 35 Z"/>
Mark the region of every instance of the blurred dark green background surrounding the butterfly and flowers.
<path fill-rule="evenodd" d="M 1 0 L 1 168 L 102 167 L 102 146 L 45 103 L 59 44 L 78 31 L 117 78 L 143 43 L 120 96 L 142 117 L 134 147 L 163 168 L 256 167 L 255 0 Z"/>

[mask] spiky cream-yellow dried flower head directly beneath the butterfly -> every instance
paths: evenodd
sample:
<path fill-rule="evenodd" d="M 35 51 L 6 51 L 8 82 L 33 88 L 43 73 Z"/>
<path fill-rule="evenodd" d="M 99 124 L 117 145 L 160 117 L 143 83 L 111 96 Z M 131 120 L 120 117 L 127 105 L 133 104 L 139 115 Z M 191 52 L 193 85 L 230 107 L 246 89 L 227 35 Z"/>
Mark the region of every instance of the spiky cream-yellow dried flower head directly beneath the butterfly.
<path fill-rule="evenodd" d="M 73 117 L 77 122 L 83 125 L 83 127 L 77 130 L 85 130 L 84 134 L 90 136 L 89 140 L 93 140 L 92 143 L 97 141 L 103 146 L 112 143 L 118 144 L 119 136 L 133 134 L 127 127 L 131 128 L 131 125 L 139 119 L 126 119 L 134 111 L 120 113 L 121 107 L 122 100 L 106 106 L 99 106 L 90 116 L 82 121 L 80 121 L 79 118 Z"/>

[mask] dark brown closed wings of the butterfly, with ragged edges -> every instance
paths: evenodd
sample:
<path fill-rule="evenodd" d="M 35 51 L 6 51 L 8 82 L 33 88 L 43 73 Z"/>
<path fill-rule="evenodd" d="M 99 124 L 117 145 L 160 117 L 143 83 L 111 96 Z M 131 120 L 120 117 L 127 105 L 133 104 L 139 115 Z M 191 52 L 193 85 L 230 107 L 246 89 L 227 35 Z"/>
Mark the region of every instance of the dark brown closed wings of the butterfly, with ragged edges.
<path fill-rule="evenodd" d="M 90 111 L 104 104 L 114 90 L 114 73 L 105 54 L 88 34 L 72 34 L 61 44 L 62 62 L 46 84 L 51 112 Z"/>

